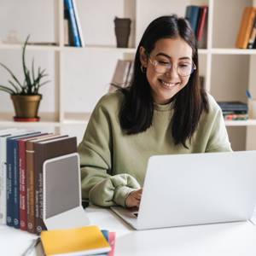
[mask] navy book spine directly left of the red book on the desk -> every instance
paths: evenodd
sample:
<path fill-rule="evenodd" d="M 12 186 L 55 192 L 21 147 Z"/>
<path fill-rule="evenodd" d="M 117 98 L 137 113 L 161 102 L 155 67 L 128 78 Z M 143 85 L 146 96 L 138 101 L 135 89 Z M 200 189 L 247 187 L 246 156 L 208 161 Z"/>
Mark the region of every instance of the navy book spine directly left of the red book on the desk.
<path fill-rule="evenodd" d="M 14 188 L 14 227 L 20 229 L 20 166 L 19 166 L 19 141 L 13 141 L 14 168 L 13 168 L 13 188 Z"/>

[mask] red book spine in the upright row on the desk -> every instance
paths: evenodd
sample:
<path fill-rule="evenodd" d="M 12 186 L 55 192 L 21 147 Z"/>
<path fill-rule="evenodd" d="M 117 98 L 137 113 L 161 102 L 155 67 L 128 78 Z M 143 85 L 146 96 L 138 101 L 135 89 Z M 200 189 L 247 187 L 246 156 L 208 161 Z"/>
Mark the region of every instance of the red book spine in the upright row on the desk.
<path fill-rule="evenodd" d="M 27 230 L 26 214 L 26 142 L 19 142 L 20 159 L 20 230 Z"/>

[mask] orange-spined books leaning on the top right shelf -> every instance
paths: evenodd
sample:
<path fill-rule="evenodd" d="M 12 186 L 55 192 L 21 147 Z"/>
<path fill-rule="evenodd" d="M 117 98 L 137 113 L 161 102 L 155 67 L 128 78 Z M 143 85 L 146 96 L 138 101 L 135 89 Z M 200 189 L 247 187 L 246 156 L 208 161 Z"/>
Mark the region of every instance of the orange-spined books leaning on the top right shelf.
<path fill-rule="evenodd" d="M 250 6 L 243 10 L 240 30 L 236 38 L 236 47 L 256 49 L 256 7 Z"/>

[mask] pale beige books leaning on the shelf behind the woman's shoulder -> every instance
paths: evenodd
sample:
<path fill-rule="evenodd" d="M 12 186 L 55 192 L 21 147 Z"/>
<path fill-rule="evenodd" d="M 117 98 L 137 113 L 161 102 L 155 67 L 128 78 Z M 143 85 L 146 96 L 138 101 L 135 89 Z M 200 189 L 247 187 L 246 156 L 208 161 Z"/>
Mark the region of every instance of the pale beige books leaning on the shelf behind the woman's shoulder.
<path fill-rule="evenodd" d="M 133 75 L 133 61 L 118 60 L 111 84 L 108 91 L 116 90 L 118 87 L 127 87 L 131 84 Z"/>

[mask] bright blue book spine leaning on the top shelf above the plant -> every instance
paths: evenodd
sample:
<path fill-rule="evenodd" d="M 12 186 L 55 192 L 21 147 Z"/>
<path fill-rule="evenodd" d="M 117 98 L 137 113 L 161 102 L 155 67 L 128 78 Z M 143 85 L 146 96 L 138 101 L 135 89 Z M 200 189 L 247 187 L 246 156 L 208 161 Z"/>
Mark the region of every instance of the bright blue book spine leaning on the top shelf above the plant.
<path fill-rule="evenodd" d="M 64 0 L 65 8 L 67 9 L 67 18 L 69 20 L 69 24 L 71 26 L 71 32 L 73 35 L 73 44 L 76 47 L 81 47 L 82 44 L 79 39 L 79 28 L 76 21 L 75 12 L 73 9 L 73 1 L 72 0 Z"/>

